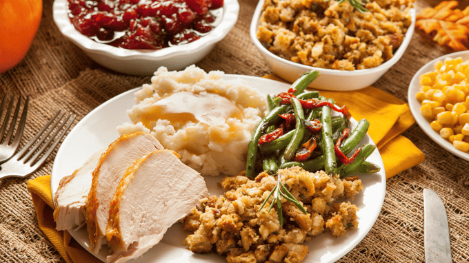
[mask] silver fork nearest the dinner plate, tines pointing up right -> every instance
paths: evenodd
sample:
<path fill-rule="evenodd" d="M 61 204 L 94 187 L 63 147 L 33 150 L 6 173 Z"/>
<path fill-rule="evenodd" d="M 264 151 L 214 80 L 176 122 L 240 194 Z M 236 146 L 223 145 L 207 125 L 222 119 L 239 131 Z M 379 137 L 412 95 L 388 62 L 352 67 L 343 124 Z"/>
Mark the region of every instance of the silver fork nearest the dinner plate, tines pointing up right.
<path fill-rule="evenodd" d="M 61 114 L 61 110 L 57 111 L 34 138 L 26 143 L 10 160 L 1 164 L 0 179 L 10 176 L 25 177 L 36 171 L 39 166 L 46 161 L 48 156 L 52 154 L 52 151 L 54 151 L 55 147 L 60 143 L 61 138 L 66 134 L 66 131 L 70 129 L 75 116 L 68 114 L 68 116 L 63 119 L 65 115 L 66 112 Z M 67 122 L 68 124 L 66 125 Z M 65 128 L 63 128 L 64 125 L 66 125 Z M 54 132 L 52 133 L 52 131 Z M 57 134 L 59 135 L 57 136 Z M 44 142 L 46 139 L 47 141 Z"/>

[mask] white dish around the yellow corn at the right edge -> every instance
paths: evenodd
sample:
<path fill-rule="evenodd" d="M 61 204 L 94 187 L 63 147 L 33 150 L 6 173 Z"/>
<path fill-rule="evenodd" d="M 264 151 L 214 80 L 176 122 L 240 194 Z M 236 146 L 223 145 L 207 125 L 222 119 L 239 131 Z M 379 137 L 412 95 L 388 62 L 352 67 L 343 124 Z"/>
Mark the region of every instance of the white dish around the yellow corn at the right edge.
<path fill-rule="evenodd" d="M 421 69 L 414 75 L 412 78 L 412 81 L 410 81 L 409 85 L 409 90 L 408 90 L 408 101 L 409 101 L 409 107 L 410 111 L 412 112 L 412 115 L 414 115 L 415 120 L 425 131 L 425 133 L 430 137 L 435 143 L 439 144 L 441 147 L 449 151 L 450 153 L 454 154 L 455 156 L 459 156 L 460 158 L 463 158 L 464 160 L 469 160 L 469 154 L 465 153 L 463 151 L 459 151 L 456 149 L 454 146 L 452 146 L 452 143 L 450 143 L 449 140 L 446 140 L 445 138 L 442 138 L 437 131 L 434 131 L 432 127 L 430 127 L 430 122 L 422 116 L 420 113 L 420 107 L 421 104 L 419 101 L 417 101 L 416 95 L 417 92 L 420 90 L 420 76 L 425 74 L 426 72 L 431 72 L 435 68 L 433 65 L 437 61 L 444 61 L 445 58 L 457 58 L 461 56 L 461 58 L 466 61 L 469 59 L 469 51 L 461 51 L 461 52 L 456 52 L 456 53 L 451 53 L 447 54 L 445 56 L 440 56 L 438 59 L 434 59 L 428 63 L 426 63 Z"/>

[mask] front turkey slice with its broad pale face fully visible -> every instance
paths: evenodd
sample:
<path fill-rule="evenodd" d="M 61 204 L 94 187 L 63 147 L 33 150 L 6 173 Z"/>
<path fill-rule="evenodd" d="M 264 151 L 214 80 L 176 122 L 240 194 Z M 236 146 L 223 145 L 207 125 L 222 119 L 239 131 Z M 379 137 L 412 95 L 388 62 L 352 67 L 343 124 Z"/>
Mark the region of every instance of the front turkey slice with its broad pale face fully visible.
<path fill-rule="evenodd" d="M 130 166 L 111 202 L 106 238 L 122 263 L 158 244 L 166 230 L 208 196 L 203 177 L 173 151 L 152 151 Z"/>

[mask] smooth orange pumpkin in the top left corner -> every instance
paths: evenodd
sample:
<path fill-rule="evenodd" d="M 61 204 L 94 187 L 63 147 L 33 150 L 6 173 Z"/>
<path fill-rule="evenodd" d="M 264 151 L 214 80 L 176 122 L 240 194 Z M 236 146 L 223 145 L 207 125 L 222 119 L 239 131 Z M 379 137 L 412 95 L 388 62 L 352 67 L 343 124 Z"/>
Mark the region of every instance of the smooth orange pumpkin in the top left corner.
<path fill-rule="evenodd" d="M 42 0 L 0 0 L 0 73 L 28 52 L 42 14 Z"/>

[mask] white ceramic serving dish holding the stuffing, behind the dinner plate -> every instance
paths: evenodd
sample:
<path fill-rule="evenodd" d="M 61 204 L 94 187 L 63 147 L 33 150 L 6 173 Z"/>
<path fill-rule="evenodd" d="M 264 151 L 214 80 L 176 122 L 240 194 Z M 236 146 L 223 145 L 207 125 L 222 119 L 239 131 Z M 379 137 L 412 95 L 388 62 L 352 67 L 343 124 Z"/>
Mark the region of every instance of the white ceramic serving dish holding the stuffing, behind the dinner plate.
<path fill-rule="evenodd" d="M 406 32 L 406 36 L 404 37 L 401 46 L 396 50 L 392 59 L 378 67 L 353 71 L 323 69 L 282 59 L 280 56 L 277 56 L 264 48 L 259 39 L 257 39 L 257 27 L 259 25 L 259 18 L 261 17 L 263 4 L 264 0 L 259 0 L 254 15 L 252 16 L 250 26 L 252 42 L 254 42 L 256 48 L 264 59 L 266 59 L 266 63 L 270 66 L 272 72 L 286 81 L 294 82 L 301 74 L 310 70 L 321 72 L 321 75 L 310 85 L 310 87 L 319 90 L 359 90 L 363 87 L 372 85 L 381 78 L 381 76 L 383 76 L 383 74 L 385 74 L 392 65 L 401 59 L 401 56 L 404 54 L 410 43 L 410 39 L 412 39 L 412 34 L 415 28 L 415 9 L 412 9 L 410 12 L 412 23 Z"/>

